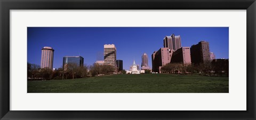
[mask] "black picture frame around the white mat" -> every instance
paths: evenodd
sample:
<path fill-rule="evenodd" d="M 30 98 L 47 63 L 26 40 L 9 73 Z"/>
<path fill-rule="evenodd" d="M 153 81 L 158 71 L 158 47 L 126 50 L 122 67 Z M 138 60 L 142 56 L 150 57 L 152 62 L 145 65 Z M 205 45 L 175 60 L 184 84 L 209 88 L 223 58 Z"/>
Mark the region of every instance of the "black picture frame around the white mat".
<path fill-rule="evenodd" d="M 0 0 L 1 119 L 255 119 L 255 0 Z M 12 111 L 10 110 L 10 10 L 246 10 L 244 111 Z M 242 41 L 245 42 L 245 41 Z M 210 103 L 209 103 L 210 104 Z M 235 105 L 234 105 L 235 106 Z"/>

